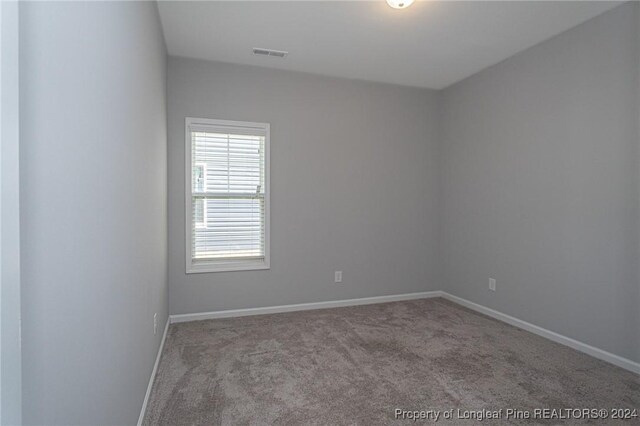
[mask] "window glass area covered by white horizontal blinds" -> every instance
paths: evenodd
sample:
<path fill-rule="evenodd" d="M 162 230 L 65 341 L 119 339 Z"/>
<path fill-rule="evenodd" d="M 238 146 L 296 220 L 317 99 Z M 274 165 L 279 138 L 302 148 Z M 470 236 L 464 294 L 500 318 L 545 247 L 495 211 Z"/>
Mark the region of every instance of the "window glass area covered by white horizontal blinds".
<path fill-rule="evenodd" d="M 191 132 L 192 258 L 265 256 L 265 137 Z M 203 194 L 206 193 L 206 196 Z"/>

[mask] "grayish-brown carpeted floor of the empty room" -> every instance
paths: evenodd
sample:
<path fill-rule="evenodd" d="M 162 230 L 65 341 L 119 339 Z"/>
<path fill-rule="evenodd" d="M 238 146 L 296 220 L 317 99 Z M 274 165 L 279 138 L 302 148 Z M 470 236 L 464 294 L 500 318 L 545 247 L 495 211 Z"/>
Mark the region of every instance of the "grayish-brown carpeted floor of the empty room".
<path fill-rule="evenodd" d="M 506 418 L 536 408 L 640 410 L 640 376 L 424 299 L 171 325 L 144 424 L 401 424 L 396 409 L 454 409 L 438 424 L 482 409 L 503 409 L 489 425 L 612 422 Z"/>

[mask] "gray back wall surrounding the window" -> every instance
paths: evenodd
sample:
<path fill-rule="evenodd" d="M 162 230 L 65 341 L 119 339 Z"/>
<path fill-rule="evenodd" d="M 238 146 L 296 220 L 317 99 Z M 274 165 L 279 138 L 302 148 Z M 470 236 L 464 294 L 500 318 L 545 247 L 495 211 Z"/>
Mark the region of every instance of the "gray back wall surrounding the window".
<path fill-rule="evenodd" d="M 434 92 L 170 58 L 168 99 L 172 314 L 440 287 Z M 187 116 L 271 123 L 270 270 L 185 274 Z"/>

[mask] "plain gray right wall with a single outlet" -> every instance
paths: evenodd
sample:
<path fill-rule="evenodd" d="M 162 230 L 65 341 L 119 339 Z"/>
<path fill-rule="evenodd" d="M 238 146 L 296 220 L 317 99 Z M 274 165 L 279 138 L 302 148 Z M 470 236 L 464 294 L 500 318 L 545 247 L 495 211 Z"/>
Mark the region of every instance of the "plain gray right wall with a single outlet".
<path fill-rule="evenodd" d="M 635 361 L 638 9 L 446 89 L 440 158 L 444 288 Z"/>

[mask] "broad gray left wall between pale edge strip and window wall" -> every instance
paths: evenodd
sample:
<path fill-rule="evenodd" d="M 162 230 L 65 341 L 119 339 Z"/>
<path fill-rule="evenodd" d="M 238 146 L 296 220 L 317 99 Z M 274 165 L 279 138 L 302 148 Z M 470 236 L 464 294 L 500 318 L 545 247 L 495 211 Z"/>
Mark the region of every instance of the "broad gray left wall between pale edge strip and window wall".
<path fill-rule="evenodd" d="M 135 424 L 168 307 L 156 5 L 20 8 L 23 419 Z"/>

